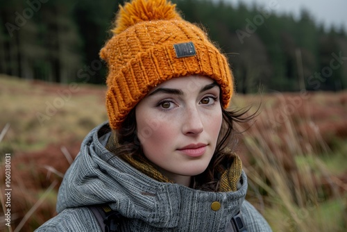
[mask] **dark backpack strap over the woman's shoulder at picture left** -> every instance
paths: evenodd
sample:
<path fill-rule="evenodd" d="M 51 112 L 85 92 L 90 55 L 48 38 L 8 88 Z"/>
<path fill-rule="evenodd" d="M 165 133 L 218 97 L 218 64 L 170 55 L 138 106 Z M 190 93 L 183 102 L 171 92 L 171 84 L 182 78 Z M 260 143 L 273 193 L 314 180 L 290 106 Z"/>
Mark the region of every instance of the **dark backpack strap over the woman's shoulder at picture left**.
<path fill-rule="evenodd" d="M 107 205 L 90 206 L 90 210 L 99 222 L 101 231 L 103 232 L 119 232 L 121 224 L 121 214 L 112 210 Z"/>

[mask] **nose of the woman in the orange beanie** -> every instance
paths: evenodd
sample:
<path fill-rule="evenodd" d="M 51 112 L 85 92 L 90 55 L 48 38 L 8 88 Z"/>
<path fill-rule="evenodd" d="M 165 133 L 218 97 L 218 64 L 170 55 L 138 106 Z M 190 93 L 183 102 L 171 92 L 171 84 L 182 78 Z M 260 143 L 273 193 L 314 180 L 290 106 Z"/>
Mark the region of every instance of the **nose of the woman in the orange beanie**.
<path fill-rule="evenodd" d="M 203 132 L 203 122 L 196 107 L 188 108 L 183 118 L 183 133 L 185 135 L 198 135 Z"/>

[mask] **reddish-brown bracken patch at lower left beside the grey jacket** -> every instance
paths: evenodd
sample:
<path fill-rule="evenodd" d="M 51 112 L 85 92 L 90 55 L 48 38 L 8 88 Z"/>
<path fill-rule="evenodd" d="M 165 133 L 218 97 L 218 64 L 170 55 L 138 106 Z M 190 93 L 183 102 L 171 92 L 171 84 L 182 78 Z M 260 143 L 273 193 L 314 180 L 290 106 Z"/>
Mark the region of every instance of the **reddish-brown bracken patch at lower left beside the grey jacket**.
<path fill-rule="evenodd" d="M 40 201 L 45 190 L 55 181 L 56 185 L 52 192 L 38 206 L 21 231 L 31 231 L 56 214 L 56 192 L 62 181 L 62 175 L 70 165 L 61 147 L 66 146 L 72 159 L 76 157 L 80 147 L 80 144 L 67 144 L 51 144 L 42 151 L 21 152 L 12 156 L 10 207 L 12 229 L 18 226 L 26 213 Z M 67 154 L 66 151 L 65 153 Z M 0 174 L 1 183 L 4 183 L 3 173 Z"/>

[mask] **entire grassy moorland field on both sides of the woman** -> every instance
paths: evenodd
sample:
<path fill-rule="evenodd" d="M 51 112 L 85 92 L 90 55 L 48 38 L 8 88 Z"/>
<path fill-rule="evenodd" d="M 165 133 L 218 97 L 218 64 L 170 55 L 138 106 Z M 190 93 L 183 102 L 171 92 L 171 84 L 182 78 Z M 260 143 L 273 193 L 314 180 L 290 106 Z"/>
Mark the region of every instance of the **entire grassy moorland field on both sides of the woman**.
<path fill-rule="evenodd" d="M 105 87 L 54 85 L 0 76 L 1 206 L 11 162 L 11 227 L 33 231 L 56 215 L 62 176 L 81 141 L 107 119 Z M 260 107 L 237 125 L 247 199 L 273 231 L 346 231 L 347 92 L 241 95 L 231 108 Z M 5 221 L 1 215 L 1 222 Z"/>

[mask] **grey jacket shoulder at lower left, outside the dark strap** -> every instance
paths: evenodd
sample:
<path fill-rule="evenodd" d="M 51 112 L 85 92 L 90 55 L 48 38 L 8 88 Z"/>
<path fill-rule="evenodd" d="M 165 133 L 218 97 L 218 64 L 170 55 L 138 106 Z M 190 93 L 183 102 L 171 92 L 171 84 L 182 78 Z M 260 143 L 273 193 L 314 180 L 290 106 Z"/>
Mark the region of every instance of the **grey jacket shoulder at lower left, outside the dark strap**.
<path fill-rule="evenodd" d="M 99 222 L 88 207 L 67 208 L 49 219 L 35 230 L 35 232 L 60 231 L 101 231 Z"/>

